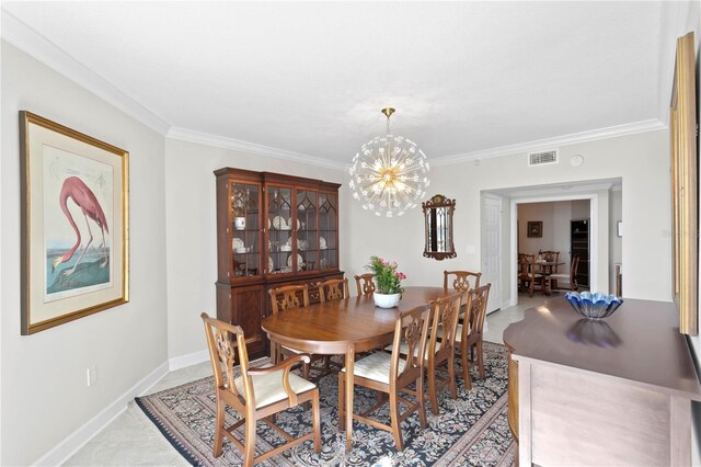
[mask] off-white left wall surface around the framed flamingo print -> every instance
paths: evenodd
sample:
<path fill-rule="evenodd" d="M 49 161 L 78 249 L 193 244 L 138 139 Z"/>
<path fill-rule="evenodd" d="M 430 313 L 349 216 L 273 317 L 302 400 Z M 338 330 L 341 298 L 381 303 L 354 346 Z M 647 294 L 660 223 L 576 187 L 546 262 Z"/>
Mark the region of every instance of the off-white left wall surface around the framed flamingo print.
<path fill-rule="evenodd" d="M 2 42 L 1 465 L 27 465 L 166 358 L 163 137 Z M 130 301 L 20 335 L 20 110 L 129 151 Z M 97 383 L 85 384 L 89 365 Z"/>

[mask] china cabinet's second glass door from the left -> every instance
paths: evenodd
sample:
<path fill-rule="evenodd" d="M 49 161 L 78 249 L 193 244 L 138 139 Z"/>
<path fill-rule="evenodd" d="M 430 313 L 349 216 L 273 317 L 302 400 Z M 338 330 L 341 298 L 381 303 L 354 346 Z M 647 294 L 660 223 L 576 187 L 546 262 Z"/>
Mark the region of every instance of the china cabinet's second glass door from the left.
<path fill-rule="evenodd" d="M 285 274 L 295 271 L 296 259 L 292 234 L 292 189 L 267 187 L 267 274 Z"/>

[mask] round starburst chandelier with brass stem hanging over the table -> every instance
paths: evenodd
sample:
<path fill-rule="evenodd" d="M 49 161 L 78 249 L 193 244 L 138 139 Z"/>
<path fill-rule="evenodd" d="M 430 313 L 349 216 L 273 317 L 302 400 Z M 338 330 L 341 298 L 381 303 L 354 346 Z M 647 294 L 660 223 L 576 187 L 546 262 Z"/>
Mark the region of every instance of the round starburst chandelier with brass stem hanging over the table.
<path fill-rule="evenodd" d="M 377 136 L 360 147 L 349 169 L 349 185 L 364 209 L 377 216 L 401 216 L 426 196 L 428 162 L 414 141 L 390 134 L 394 109 L 380 112 L 387 115 L 387 136 Z"/>

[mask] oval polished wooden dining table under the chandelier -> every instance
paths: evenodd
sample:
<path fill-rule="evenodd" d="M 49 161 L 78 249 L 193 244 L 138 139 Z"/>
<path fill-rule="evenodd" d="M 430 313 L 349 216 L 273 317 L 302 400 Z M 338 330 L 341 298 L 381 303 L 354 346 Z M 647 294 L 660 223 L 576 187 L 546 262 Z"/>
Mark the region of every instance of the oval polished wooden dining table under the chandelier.
<path fill-rule="evenodd" d="M 378 308 L 372 295 L 291 308 L 263 319 L 261 327 L 278 345 L 321 355 L 345 355 L 346 451 L 353 445 L 353 368 L 355 353 L 392 342 L 399 312 L 453 294 L 451 288 L 404 287 L 394 308 Z"/>

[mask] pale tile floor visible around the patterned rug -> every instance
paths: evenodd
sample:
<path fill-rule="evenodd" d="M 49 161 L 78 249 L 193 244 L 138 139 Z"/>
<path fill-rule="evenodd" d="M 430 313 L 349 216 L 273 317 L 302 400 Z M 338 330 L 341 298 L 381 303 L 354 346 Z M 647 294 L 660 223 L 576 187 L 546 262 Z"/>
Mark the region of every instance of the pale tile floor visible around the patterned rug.
<path fill-rule="evenodd" d="M 519 295 L 519 304 L 486 317 L 485 340 L 502 343 L 502 334 L 512 322 L 520 321 L 528 308 L 543 303 L 543 297 Z M 171 372 L 149 394 L 204 378 L 211 374 L 209 362 Z M 165 441 L 136 402 L 97 433 L 70 457 L 68 466 L 188 466 L 189 464 Z"/>

